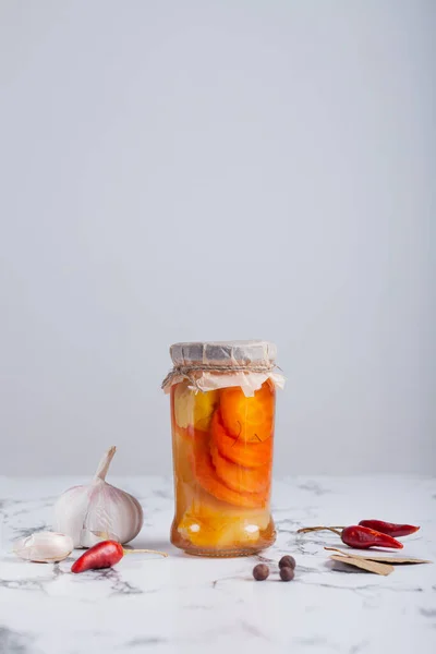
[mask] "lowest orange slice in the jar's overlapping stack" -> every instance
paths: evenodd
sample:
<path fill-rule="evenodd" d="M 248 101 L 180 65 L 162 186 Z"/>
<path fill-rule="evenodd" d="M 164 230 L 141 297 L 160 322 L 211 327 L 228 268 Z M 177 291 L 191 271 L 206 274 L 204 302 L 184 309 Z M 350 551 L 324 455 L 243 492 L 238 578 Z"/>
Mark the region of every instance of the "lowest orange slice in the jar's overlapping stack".
<path fill-rule="evenodd" d="M 205 439 L 196 439 L 193 448 L 192 467 L 197 482 L 205 491 L 214 495 L 217 499 L 227 501 L 231 505 L 246 508 L 259 508 L 265 506 L 267 492 L 263 493 L 242 493 L 227 486 L 218 476 L 215 470 L 209 444 Z"/>

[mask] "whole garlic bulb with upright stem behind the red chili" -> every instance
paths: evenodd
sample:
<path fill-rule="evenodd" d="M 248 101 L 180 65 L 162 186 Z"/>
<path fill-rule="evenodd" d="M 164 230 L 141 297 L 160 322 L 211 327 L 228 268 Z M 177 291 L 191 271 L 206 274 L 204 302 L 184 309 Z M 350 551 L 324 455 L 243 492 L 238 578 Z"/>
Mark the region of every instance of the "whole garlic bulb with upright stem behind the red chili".
<path fill-rule="evenodd" d="M 108 449 L 89 485 L 73 486 L 56 504 L 56 529 L 69 534 L 74 547 L 107 538 L 124 544 L 141 531 L 144 516 L 137 499 L 105 481 L 116 451 Z"/>

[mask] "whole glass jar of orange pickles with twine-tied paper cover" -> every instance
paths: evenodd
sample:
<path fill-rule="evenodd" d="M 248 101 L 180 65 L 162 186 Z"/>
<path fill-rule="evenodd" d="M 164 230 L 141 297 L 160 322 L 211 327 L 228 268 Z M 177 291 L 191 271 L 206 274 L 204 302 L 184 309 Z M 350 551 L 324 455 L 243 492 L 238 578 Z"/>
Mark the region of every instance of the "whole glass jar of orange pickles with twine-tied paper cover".
<path fill-rule="evenodd" d="M 171 393 L 175 511 L 171 543 L 245 556 L 276 540 L 269 508 L 276 348 L 264 341 L 177 343 Z"/>

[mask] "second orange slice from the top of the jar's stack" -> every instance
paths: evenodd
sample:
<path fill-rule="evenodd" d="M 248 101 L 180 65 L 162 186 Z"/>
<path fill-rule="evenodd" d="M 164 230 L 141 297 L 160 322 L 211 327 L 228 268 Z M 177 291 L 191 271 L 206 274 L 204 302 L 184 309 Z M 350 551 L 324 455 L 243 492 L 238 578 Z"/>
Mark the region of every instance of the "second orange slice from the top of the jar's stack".
<path fill-rule="evenodd" d="M 233 463 L 239 463 L 244 468 L 271 464 L 272 438 L 267 438 L 263 443 L 258 440 L 246 443 L 240 438 L 233 438 L 226 432 L 219 410 L 214 413 L 211 419 L 210 435 L 221 455 Z"/>

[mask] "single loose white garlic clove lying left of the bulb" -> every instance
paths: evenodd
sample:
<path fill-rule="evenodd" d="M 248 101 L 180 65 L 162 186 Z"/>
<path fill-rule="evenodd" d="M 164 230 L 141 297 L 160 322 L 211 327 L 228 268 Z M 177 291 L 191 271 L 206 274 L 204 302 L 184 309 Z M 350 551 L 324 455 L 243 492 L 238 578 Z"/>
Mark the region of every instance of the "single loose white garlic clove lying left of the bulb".
<path fill-rule="evenodd" d="M 32 536 L 15 541 L 13 547 L 20 558 L 38 564 L 62 561 L 73 549 L 71 536 L 56 532 L 36 532 Z"/>

